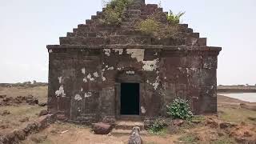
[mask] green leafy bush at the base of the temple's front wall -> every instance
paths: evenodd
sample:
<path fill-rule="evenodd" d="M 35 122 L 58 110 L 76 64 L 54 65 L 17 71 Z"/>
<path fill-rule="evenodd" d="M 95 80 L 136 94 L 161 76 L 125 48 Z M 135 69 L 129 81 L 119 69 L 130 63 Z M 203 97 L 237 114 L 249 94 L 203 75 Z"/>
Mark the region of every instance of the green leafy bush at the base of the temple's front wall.
<path fill-rule="evenodd" d="M 167 105 L 167 114 L 171 118 L 190 120 L 193 116 L 188 101 L 182 98 L 175 98 L 174 102 Z"/>

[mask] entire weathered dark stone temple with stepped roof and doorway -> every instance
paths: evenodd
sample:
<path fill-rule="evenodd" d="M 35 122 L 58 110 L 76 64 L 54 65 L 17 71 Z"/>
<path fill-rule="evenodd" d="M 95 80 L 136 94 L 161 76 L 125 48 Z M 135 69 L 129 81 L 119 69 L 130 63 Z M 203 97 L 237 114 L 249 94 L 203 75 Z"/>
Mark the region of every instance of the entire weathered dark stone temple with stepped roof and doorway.
<path fill-rule="evenodd" d="M 60 38 L 49 52 L 48 110 L 69 122 L 91 123 L 166 116 L 166 105 L 185 98 L 194 114 L 217 112 L 220 47 L 206 46 L 187 24 L 182 41 L 155 38 L 135 22 L 166 13 L 155 4 L 135 2 L 118 26 L 98 24 L 97 12 Z M 102 11 L 106 10 L 105 8 Z"/>

